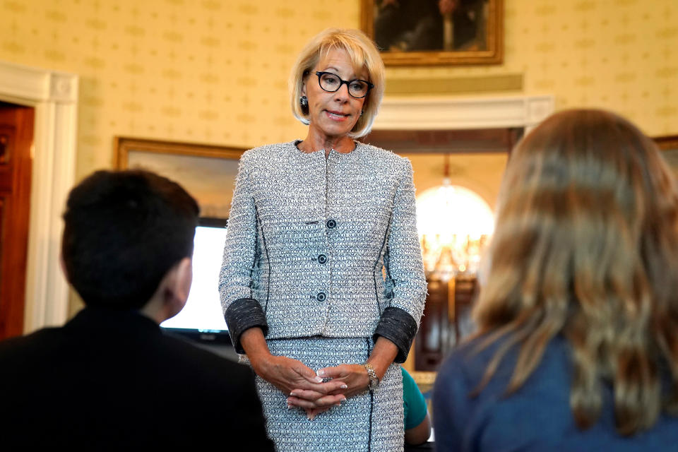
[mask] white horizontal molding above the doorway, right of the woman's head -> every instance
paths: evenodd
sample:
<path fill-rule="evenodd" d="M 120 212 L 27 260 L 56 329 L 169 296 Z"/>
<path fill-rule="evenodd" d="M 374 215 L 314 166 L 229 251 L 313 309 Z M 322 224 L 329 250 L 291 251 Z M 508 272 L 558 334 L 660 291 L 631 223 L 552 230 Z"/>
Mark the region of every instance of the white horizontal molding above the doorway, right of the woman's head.
<path fill-rule="evenodd" d="M 532 129 L 554 112 L 552 95 L 385 97 L 377 130 Z"/>

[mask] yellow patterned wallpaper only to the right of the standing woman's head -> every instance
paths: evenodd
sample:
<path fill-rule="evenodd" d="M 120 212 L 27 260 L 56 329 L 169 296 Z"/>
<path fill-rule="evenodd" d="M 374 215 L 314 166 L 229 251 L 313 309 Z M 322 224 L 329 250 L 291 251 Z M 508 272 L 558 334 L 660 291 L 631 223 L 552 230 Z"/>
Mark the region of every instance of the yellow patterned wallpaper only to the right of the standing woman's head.
<path fill-rule="evenodd" d="M 678 133 L 676 0 L 504 0 L 501 66 L 392 69 L 441 78 L 522 73 L 556 108 L 602 107 L 652 135 Z"/>

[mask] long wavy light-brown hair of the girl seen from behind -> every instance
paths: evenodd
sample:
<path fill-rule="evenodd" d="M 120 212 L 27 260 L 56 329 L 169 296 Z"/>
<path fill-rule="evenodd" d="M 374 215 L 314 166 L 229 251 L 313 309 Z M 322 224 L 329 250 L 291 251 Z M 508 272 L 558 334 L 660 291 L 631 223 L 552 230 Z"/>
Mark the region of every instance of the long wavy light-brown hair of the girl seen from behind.
<path fill-rule="evenodd" d="M 515 347 L 515 393 L 561 335 L 580 429 L 597 422 L 607 385 L 619 434 L 678 415 L 678 194 L 636 126 L 591 109 L 537 126 L 506 167 L 487 258 L 473 314 L 480 348 L 499 347 L 476 391 Z"/>

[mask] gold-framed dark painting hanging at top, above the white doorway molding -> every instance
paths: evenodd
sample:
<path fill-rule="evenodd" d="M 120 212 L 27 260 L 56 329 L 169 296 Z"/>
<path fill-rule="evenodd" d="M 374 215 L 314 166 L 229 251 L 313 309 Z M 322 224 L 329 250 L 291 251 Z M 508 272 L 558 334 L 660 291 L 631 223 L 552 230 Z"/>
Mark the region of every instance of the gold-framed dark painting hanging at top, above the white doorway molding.
<path fill-rule="evenodd" d="M 504 0 L 361 0 L 362 29 L 387 66 L 499 64 Z"/>

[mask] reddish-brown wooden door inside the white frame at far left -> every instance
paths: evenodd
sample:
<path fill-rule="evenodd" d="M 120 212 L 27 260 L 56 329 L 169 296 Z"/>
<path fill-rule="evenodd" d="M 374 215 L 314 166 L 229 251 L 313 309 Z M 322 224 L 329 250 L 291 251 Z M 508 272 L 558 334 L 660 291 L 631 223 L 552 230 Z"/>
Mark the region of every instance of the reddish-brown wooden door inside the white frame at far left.
<path fill-rule="evenodd" d="M 0 340 L 23 333 L 33 119 L 0 102 Z"/>

